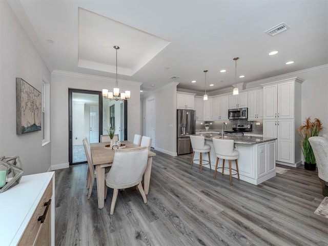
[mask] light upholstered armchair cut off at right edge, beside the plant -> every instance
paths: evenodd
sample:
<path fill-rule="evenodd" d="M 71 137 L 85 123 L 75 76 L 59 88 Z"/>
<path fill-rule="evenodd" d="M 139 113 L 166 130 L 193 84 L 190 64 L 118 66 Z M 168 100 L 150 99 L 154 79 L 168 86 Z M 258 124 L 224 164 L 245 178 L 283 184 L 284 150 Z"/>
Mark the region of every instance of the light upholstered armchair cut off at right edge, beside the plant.
<path fill-rule="evenodd" d="M 316 158 L 318 176 L 322 183 L 322 194 L 328 196 L 328 139 L 310 137 L 309 142 Z"/>

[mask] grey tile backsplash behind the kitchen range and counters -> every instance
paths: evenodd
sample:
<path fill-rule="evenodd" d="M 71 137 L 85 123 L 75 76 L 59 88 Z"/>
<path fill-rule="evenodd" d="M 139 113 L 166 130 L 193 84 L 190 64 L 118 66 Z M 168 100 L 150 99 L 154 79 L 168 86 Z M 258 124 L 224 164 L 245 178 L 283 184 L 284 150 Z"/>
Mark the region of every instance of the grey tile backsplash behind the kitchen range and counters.
<path fill-rule="evenodd" d="M 245 119 L 234 119 L 234 120 L 213 120 L 213 121 L 201 121 L 196 120 L 196 131 L 205 130 L 205 124 L 209 124 L 209 131 L 211 130 L 221 130 L 222 129 L 222 122 L 227 122 L 227 128 L 225 130 L 232 130 L 232 125 L 234 124 L 251 124 L 252 125 L 252 133 L 263 133 L 263 121 L 248 121 Z M 211 125 L 212 123 L 212 125 Z M 256 123 L 260 125 L 256 125 Z"/>

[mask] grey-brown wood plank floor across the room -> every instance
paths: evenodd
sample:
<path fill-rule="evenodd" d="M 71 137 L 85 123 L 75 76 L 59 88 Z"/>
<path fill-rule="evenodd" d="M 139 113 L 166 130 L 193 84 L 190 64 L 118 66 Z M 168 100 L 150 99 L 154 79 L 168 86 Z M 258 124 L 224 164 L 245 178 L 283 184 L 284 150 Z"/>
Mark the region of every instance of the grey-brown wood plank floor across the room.
<path fill-rule="evenodd" d="M 155 151 L 156 152 L 156 151 Z M 135 189 L 113 190 L 98 209 L 87 165 L 55 174 L 56 245 L 328 245 L 328 219 L 317 172 L 289 168 L 258 186 L 194 165 L 191 155 L 156 152 L 147 204 Z M 214 165 L 213 165 L 214 166 Z M 284 166 L 281 166 L 284 167 Z"/>

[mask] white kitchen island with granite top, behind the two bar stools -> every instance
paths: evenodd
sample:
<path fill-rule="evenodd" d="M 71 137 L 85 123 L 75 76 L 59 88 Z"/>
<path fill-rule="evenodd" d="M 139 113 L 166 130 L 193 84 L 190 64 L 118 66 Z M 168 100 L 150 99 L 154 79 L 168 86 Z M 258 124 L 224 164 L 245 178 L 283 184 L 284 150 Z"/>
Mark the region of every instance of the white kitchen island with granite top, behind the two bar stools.
<path fill-rule="evenodd" d="M 204 136 L 206 144 L 211 146 L 210 157 L 214 175 L 216 155 L 212 138 L 222 138 L 222 136 L 216 133 L 195 135 Z M 276 176 L 276 138 L 225 135 L 224 139 L 234 140 L 235 148 L 239 151 L 238 168 L 240 180 L 253 185 L 259 185 L 259 183 Z M 207 155 L 203 155 L 203 159 L 207 158 Z M 199 159 L 198 153 L 195 153 L 195 159 Z M 232 161 L 231 166 L 233 169 L 236 169 L 234 161 Z M 210 168 L 208 165 L 203 167 Z M 221 159 L 218 167 L 222 167 Z M 219 171 L 221 170 L 218 169 Z M 237 178 L 236 176 L 233 177 Z M 216 178 L 220 178 L 219 173 L 217 173 Z"/>

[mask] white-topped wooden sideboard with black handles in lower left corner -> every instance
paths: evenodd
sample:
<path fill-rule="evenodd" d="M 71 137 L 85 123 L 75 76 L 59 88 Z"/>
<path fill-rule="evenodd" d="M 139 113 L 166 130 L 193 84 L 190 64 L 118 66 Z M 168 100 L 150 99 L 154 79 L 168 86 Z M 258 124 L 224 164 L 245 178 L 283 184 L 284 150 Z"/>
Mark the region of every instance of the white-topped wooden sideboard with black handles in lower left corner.
<path fill-rule="evenodd" d="M 54 189 L 54 172 L 47 172 L 23 176 L 0 194 L 0 245 L 54 245 Z"/>

